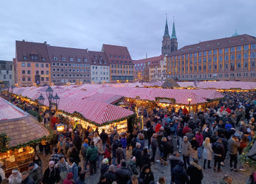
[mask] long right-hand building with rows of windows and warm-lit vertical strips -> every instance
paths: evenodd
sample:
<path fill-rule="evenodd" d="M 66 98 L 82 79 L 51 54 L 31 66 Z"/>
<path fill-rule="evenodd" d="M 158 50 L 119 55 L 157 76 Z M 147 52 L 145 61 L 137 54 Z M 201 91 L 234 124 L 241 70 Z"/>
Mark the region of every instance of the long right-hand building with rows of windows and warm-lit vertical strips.
<path fill-rule="evenodd" d="M 172 52 L 167 71 L 169 78 L 181 81 L 255 81 L 255 61 L 256 38 L 235 33 Z"/>

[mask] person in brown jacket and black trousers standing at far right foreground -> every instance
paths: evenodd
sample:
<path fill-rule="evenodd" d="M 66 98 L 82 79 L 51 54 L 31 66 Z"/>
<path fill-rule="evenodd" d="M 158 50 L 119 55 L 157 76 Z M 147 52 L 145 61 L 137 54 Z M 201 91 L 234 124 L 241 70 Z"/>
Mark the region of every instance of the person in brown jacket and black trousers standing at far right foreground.
<path fill-rule="evenodd" d="M 234 162 L 234 171 L 237 172 L 238 164 L 238 148 L 240 147 L 240 142 L 238 138 L 233 135 L 228 140 L 228 154 L 230 155 L 230 171 L 233 171 L 233 162 Z"/>

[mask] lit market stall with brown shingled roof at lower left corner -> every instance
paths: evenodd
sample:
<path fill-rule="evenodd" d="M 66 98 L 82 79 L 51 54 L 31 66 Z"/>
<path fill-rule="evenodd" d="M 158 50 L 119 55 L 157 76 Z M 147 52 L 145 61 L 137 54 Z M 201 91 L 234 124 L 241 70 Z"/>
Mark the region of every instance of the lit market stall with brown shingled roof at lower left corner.
<path fill-rule="evenodd" d="M 34 147 L 50 134 L 34 117 L 3 98 L 0 98 L 0 131 L 0 160 L 6 176 L 14 167 L 27 170 L 35 155 Z"/>

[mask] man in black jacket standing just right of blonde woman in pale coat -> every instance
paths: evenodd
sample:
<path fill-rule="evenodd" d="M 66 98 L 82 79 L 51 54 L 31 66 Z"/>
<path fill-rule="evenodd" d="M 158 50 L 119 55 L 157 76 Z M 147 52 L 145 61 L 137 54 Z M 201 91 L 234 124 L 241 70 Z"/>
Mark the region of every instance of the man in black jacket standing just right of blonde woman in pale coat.
<path fill-rule="evenodd" d="M 214 152 L 214 168 L 213 170 L 216 171 L 216 165 L 218 163 L 218 173 L 220 170 L 220 162 L 225 154 L 225 149 L 222 144 L 222 139 L 218 138 L 218 141 L 213 144 L 213 152 Z"/>

